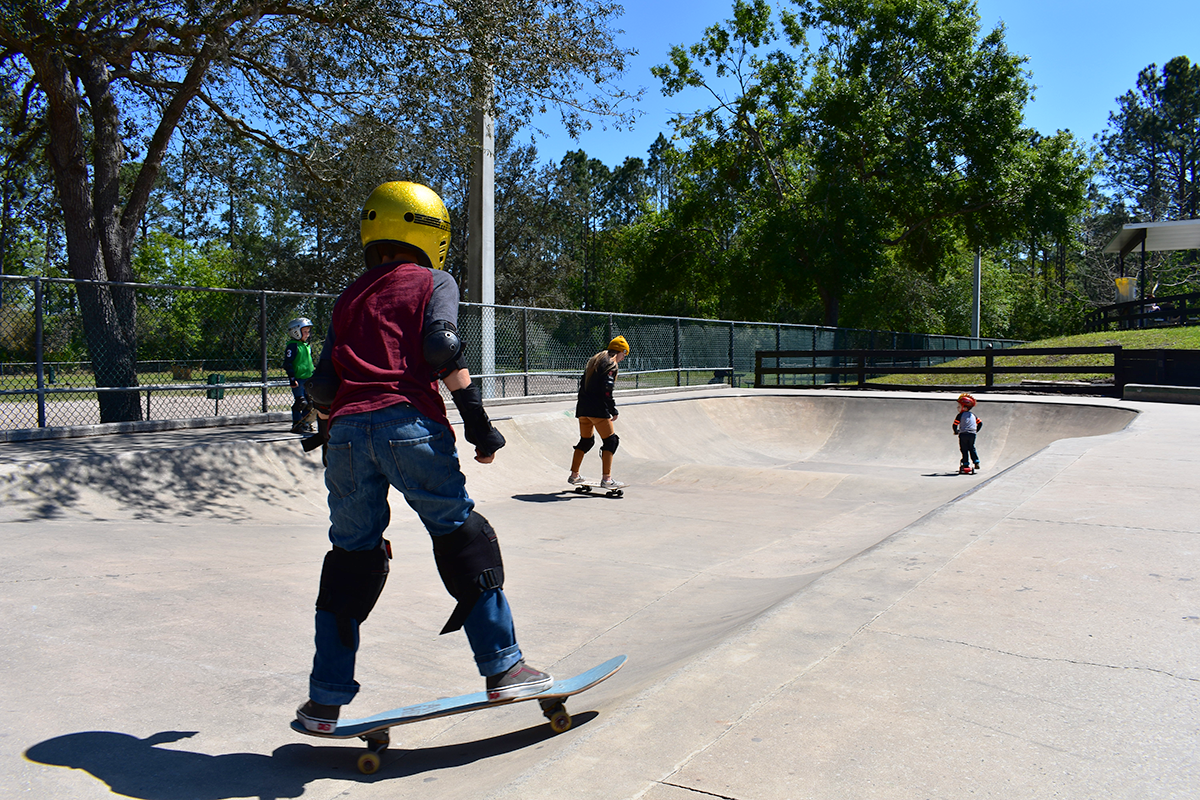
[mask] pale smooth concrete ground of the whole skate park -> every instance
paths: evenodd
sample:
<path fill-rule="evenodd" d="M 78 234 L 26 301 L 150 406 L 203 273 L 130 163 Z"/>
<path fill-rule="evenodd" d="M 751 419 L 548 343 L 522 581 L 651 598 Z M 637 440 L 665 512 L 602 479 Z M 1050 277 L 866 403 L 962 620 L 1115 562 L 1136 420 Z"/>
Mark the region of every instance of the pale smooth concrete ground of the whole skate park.
<path fill-rule="evenodd" d="M 535 666 L 571 698 L 294 734 L 325 539 L 286 426 L 0 445 L 4 796 L 1193 798 L 1200 408 L 950 395 L 619 398 L 625 497 L 565 485 L 566 401 L 491 405 L 464 461 Z M 598 475 L 595 451 L 587 474 Z M 397 501 L 362 716 L 476 691 Z"/>

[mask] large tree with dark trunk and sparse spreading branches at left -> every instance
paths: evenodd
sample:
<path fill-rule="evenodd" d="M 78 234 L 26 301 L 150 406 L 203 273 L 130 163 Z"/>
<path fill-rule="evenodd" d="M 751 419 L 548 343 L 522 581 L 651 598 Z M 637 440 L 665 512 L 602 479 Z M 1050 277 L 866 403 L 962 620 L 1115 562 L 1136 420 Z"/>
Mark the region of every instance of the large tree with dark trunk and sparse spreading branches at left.
<path fill-rule="evenodd" d="M 18 140 L 43 137 L 71 275 L 133 277 L 132 249 L 180 128 L 221 127 L 336 182 L 370 149 L 354 128 L 467 146 L 470 108 L 512 119 L 554 104 L 568 125 L 616 113 L 617 6 L 601 0 L 22 0 L 0 7 L 0 82 Z M 457 122 L 439 126 L 450 120 Z M 347 146 L 338 146 L 347 145 Z M 378 168 L 376 168 L 378 169 Z M 230 211 L 232 213 L 232 211 Z M 88 284 L 84 327 L 101 386 L 133 386 L 132 293 Z M 133 393 L 103 421 L 138 419 Z"/>

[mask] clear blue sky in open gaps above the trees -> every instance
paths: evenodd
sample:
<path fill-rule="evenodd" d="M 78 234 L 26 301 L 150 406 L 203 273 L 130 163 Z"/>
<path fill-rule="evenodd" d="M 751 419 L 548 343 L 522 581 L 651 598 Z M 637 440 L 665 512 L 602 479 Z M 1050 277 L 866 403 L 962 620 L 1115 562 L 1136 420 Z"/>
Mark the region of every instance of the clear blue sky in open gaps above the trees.
<path fill-rule="evenodd" d="M 702 95 L 664 97 L 650 67 L 665 64 L 673 44 L 690 46 L 709 25 L 730 17 L 733 0 L 626 0 L 616 28 L 619 41 L 638 50 L 623 85 L 646 88 L 646 112 L 631 130 L 599 124 L 578 140 L 544 120 L 548 139 L 538 140 L 542 161 L 584 150 L 610 167 L 628 156 L 644 158 L 659 132 L 670 136 L 674 113 L 703 107 Z M 776 7 L 782 0 L 776 0 Z M 1108 124 L 1116 97 L 1135 85 L 1138 72 L 1177 55 L 1200 61 L 1200 0 L 978 0 L 980 25 L 1003 22 L 1014 53 L 1028 56 L 1037 86 L 1026 124 L 1043 133 L 1069 128 L 1091 142 Z"/>

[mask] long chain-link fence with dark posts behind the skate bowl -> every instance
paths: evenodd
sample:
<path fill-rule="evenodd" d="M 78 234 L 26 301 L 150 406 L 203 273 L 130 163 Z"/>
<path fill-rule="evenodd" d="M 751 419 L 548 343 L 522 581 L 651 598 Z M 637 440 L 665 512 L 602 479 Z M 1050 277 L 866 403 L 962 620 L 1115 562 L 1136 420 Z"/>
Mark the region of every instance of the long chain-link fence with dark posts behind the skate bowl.
<path fill-rule="evenodd" d="M 0 429 L 286 414 L 287 324 L 335 295 L 0 276 Z M 618 389 L 754 383 L 756 350 L 972 349 L 1012 342 L 809 325 L 480 306 L 458 326 L 485 397 L 574 393 L 623 335 Z M 812 379 L 812 377 L 805 377 Z"/>

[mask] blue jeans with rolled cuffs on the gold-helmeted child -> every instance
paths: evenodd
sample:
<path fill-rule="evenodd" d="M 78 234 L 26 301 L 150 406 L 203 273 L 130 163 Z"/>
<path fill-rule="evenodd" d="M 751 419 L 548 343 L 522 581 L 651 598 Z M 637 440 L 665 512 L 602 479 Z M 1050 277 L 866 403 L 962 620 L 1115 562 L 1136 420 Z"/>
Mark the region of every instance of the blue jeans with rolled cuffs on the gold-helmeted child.
<path fill-rule="evenodd" d="M 388 492 L 396 487 L 431 536 L 454 533 L 467 522 L 474 501 L 458 467 L 454 432 L 408 404 L 340 416 L 329 429 L 329 539 L 348 551 L 379 547 L 391 519 Z M 352 643 L 338 636 L 337 618 L 317 612 L 317 655 L 308 679 L 316 703 L 346 705 L 359 691 L 354 660 L 359 626 Z M 484 593 L 463 622 L 481 675 L 508 670 L 521 660 L 512 612 L 503 590 Z"/>

